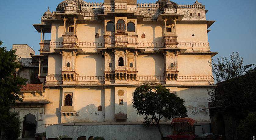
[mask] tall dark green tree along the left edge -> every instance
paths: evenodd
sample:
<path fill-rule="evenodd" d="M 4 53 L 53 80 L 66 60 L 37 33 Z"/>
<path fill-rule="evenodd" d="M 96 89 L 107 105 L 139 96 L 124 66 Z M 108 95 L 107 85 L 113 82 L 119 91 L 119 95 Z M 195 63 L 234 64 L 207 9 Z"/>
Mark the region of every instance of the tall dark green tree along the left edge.
<path fill-rule="evenodd" d="M 2 41 L 0 41 L 0 45 L 2 45 Z M 13 120 L 15 118 L 18 119 L 18 117 L 13 117 L 13 115 L 17 116 L 17 114 L 10 113 L 10 109 L 15 106 L 16 101 L 22 101 L 20 89 L 23 85 L 26 85 L 27 81 L 27 79 L 13 75 L 16 69 L 20 68 L 20 64 L 16 61 L 17 55 L 15 52 L 16 50 L 7 51 L 5 46 L 0 47 L 0 128 L 8 128 L 8 126 L 12 125 L 6 120 L 10 118 Z M 4 129 L 4 131 L 7 131 L 7 129 Z M 19 133 L 19 131 L 15 132 Z M 7 133 L 15 136 L 9 131 L 5 132 L 5 134 Z"/>

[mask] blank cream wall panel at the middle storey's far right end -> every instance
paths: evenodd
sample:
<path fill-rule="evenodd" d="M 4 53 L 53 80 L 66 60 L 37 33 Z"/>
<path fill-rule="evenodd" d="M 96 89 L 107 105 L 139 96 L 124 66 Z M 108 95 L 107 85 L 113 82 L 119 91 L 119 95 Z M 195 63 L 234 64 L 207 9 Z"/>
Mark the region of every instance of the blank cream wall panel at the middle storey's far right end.
<path fill-rule="evenodd" d="M 208 61 L 210 55 L 179 55 L 177 57 L 179 75 L 212 75 Z"/>

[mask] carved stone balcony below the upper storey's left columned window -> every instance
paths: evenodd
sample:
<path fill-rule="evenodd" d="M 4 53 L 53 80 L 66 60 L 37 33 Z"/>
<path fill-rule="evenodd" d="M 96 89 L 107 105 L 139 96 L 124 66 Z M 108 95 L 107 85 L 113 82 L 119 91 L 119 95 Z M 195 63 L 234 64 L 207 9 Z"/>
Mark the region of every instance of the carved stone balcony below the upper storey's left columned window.
<path fill-rule="evenodd" d="M 73 32 L 66 32 L 65 35 L 62 35 L 63 37 L 63 47 L 65 48 L 77 48 L 77 36 Z"/>

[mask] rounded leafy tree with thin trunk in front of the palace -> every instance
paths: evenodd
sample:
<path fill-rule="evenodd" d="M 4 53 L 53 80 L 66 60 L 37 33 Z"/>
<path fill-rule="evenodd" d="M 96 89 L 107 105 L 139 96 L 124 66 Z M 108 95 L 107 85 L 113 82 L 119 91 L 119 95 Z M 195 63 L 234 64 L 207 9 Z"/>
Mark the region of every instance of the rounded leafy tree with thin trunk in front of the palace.
<path fill-rule="evenodd" d="M 153 91 L 148 84 L 144 84 L 137 87 L 132 96 L 133 108 L 137 110 L 138 115 L 145 116 L 144 124 L 157 126 L 161 137 L 163 133 L 159 123 L 163 117 L 168 119 L 187 117 L 185 101 L 170 93 L 170 89 L 164 86 L 156 86 Z"/>

